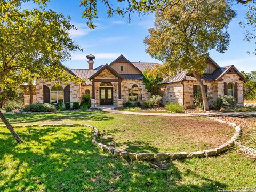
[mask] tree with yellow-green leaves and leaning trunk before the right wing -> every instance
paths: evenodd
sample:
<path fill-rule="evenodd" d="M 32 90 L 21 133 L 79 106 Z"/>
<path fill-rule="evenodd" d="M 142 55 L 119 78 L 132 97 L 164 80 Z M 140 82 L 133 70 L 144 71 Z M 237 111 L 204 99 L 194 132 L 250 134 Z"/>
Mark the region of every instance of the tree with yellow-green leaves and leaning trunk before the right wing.
<path fill-rule="evenodd" d="M 209 110 L 201 80 L 210 49 L 224 52 L 229 45 L 226 29 L 235 12 L 226 1 L 178 1 L 156 11 L 155 27 L 145 38 L 146 51 L 164 62 L 166 73 L 192 73 L 201 88 L 204 110 Z"/>

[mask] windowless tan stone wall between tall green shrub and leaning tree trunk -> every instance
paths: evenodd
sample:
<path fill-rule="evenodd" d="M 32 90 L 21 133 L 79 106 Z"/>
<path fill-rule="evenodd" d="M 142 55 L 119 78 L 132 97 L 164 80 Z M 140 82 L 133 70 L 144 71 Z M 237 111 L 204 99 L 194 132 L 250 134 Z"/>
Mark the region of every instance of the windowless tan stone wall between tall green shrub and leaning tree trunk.
<path fill-rule="evenodd" d="M 179 103 L 183 105 L 183 83 L 169 83 L 164 84 L 161 88 L 162 104 L 165 105 L 170 102 Z"/>

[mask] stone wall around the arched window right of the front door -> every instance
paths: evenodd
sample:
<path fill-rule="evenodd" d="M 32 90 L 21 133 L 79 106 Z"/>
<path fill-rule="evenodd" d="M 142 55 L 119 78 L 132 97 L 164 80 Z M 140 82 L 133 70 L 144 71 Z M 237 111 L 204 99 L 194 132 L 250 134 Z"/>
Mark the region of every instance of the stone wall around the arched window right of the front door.
<path fill-rule="evenodd" d="M 147 91 L 145 85 L 143 84 L 142 80 L 129 80 L 125 79 L 122 81 L 122 99 L 123 103 L 128 102 L 128 89 L 132 88 L 132 85 L 137 85 L 138 89 L 141 89 L 142 93 L 142 101 L 134 101 L 134 102 L 143 102 L 147 99 L 150 99 L 150 92 Z M 131 101 L 129 101 L 131 102 Z"/>

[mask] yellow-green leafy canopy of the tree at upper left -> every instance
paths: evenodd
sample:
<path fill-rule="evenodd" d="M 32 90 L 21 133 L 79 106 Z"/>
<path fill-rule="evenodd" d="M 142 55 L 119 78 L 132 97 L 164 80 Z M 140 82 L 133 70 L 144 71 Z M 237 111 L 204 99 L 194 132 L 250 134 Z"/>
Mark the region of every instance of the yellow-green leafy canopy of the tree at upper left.
<path fill-rule="evenodd" d="M 22 2 L 0 0 L 0 84 L 21 84 L 39 77 L 78 81 L 63 72 L 60 63 L 70 58 L 71 51 L 79 50 L 69 37 L 69 30 L 76 29 L 70 18 L 45 7 L 21 10 Z"/>

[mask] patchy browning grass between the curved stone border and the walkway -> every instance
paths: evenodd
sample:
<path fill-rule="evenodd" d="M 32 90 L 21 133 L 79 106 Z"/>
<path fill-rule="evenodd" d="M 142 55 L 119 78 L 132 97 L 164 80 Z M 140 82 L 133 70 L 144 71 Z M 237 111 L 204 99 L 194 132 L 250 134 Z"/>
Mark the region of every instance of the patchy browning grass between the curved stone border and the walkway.
<path fill-rule="evenodd" d="M 99 141 L 131 152 L 177 152 L 215 148 L 234 130 L 205 117 L 151 117 L 105 112 L 6 114 L 13 124 L 86 123 Z"/>

